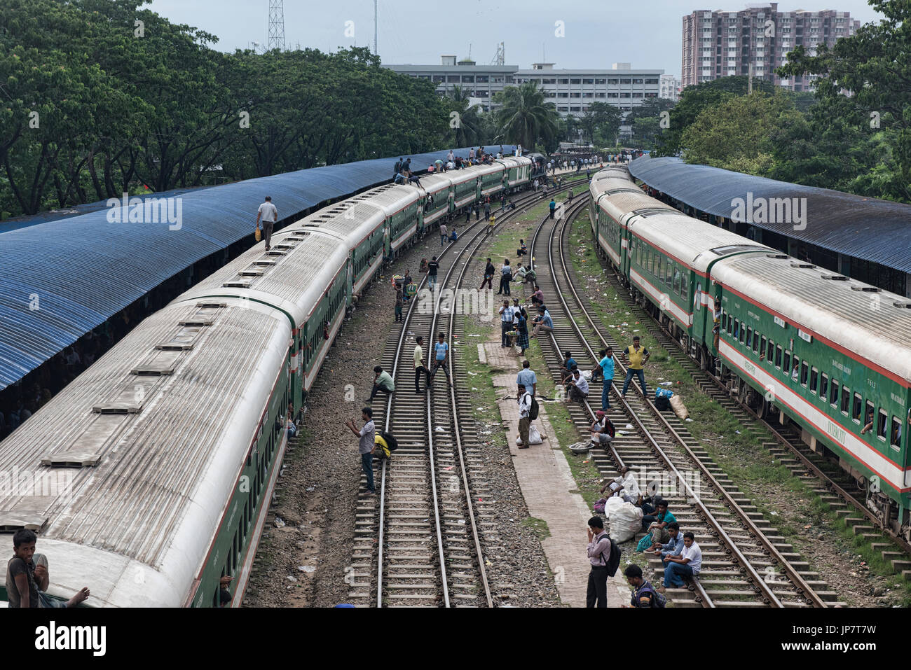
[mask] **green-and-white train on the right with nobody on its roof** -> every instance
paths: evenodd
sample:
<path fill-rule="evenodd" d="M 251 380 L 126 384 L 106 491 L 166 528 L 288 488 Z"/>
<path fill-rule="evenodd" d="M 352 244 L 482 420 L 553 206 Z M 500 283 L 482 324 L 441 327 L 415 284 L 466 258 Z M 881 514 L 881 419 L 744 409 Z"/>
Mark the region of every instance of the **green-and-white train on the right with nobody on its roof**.
<path fill-rule="evenodd" d="M 911 300 L 794 259 L 651 198 L 625 167 L 589 184 L 599 254 L 702 370 L 793 421 L 911 541 Z"/>

